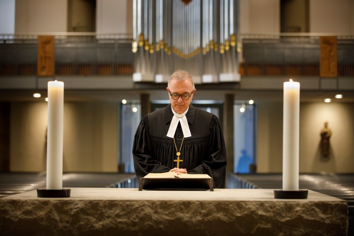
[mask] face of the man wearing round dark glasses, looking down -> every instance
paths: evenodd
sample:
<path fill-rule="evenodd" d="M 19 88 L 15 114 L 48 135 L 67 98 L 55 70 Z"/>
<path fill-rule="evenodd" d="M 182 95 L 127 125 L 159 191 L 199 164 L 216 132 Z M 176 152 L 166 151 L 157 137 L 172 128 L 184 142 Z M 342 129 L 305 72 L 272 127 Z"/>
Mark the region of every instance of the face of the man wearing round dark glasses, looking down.
<path fill-rule="evenodd" d="M 174 109 L 177 114 L 181 114 L 187 110 L 196 89 L 193 89 L 192 83 L 189 79 L 179 81 L 173 79 L 170 82 L 170 87 L 166 88 L 166 90 L 169 93 L 172 109 Z M 179 95 L 191 94 L 191 96 L 188 100 L 183 100 L 181 96 L 175 100 L 171 97 L 170 93 L 178 93 Z"/>

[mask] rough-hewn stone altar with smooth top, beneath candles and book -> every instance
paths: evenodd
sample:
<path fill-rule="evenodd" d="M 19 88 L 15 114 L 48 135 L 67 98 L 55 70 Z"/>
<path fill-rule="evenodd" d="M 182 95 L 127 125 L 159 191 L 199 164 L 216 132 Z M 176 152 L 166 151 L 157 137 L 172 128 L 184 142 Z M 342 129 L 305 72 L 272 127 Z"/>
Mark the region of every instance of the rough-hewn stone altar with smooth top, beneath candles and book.
<path fill-rule="evenodd" d="M 73 188 L 70 198 L 36 191 L 0 199 L 0 235 L 347 236 L 347 202 L 309 191 L 274 199 L 270 189 L 138 191 Z"/>

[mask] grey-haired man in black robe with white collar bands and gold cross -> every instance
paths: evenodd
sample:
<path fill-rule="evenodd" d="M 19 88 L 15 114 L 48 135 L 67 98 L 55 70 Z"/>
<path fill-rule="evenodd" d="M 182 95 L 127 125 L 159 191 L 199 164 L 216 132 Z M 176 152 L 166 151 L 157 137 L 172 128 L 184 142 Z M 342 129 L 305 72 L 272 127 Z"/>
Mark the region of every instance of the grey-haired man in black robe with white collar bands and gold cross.
<path fill-rule="evenodd" d="M 173 73 L 166 90 L 170 104 L 145 115 L 136 131 L 133 160 L 137 177 L 169 171 L 207 174 L 213 178 L 214 188 L 224 188 L 226 149 L 218 118 L 190 104 L 196 89 L 188 72 Z"/>

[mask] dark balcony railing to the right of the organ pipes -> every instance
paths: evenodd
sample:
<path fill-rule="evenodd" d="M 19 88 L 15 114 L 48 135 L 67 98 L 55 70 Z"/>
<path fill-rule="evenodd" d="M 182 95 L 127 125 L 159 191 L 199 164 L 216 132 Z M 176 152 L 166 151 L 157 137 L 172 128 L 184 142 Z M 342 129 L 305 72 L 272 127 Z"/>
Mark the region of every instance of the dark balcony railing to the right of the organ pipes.
<path fill-rule="evenodd" d="M 240 74 L 319 76 L 320 35 L 243 35 Z M 339 76 L 354 76 L 354 36 L 337 36 Z"/>

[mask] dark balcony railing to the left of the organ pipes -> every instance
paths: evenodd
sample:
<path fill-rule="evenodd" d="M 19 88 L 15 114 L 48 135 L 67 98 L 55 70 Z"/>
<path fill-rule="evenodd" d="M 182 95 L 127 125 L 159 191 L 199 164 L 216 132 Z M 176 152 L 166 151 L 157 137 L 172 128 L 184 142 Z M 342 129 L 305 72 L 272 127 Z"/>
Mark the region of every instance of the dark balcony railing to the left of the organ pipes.
<path fill-rule="evenodd" d="M 127 35 L 55 35 L 56 75 L 133 73 L 132 39 Z M 0 75 L 36 75 L 37 37 L 0 35 Z"/>

